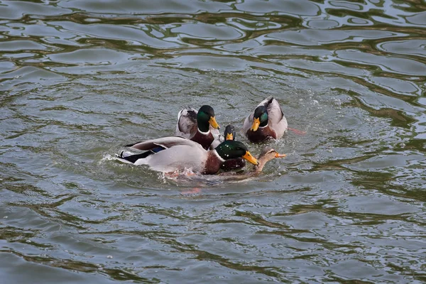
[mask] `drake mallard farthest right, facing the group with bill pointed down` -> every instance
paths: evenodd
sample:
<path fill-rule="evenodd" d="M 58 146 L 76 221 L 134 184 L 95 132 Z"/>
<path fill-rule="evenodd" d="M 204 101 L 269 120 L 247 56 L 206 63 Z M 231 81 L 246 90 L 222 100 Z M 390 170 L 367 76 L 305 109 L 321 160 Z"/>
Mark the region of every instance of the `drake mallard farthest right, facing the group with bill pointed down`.
<path fill-rule="evenodd" d="M 243 131 L 251 142 L 260 143 L 268 139 L 281 138 L 287 127 L 287 119 L 280 104 L 273 97 L 268 97 L 246 117 Z"/>

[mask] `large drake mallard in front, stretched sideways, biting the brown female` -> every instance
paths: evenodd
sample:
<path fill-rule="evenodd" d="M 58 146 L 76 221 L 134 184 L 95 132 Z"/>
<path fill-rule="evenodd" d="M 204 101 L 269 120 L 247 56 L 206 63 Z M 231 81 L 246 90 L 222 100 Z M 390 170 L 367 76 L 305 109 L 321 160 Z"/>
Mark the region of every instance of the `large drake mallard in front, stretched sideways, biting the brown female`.
<path fill-rule="evenodd" d="M 165 137 L 128 145 L 131 149 L 146 151 L 141 154 L 117 155 L 119 160 L 135 165 L 149 165 L 152 170 L 170 173 L 176 170 L 192 169 L 197 173 L 212 175 L 219 171 L 225 160 L 244 158 L 253 165 L 258 161 L 244 143 L 224 141 L 214 150 L 207 151 L 202 146 L 183 137 Z"/>

